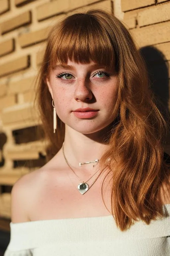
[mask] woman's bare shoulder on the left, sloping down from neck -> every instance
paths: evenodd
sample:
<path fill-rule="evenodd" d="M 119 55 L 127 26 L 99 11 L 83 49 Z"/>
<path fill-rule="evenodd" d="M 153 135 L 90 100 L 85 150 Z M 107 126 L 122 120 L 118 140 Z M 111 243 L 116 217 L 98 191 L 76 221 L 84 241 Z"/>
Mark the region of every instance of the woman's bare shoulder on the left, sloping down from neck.
<path fill-rule="evenodd" d="M 53 183 L 53 177 L 56 171 L 60 169 L 60 163 L 57 159 L 52 158 L 40 169 L 22 176 L 14 184 L 11 191 L 11 222 L 28 222 L 37 204 L 39 196 L 44 189 Z M 58 177 L 58 175 L 57 175 Z"/>

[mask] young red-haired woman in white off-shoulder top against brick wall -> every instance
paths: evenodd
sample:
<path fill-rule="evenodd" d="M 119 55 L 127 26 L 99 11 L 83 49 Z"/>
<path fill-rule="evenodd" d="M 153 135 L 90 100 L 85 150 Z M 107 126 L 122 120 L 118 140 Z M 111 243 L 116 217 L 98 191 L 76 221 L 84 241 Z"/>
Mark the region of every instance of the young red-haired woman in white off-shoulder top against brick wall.
<path fill-rule="evenodd" d="M 5 256 L 170 255 L 166 124 L 124 25 L 101 10 L 59 22 L 38 103 L 48 162 L 13 187 Z"/>

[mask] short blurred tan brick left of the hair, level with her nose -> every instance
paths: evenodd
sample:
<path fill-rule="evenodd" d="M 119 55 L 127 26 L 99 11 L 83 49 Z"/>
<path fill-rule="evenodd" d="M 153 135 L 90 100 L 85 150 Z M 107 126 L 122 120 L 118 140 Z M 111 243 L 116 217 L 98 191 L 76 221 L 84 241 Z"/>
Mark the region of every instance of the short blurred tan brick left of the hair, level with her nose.
<path fill-rule="evenodd" d="M 8 94 L 22 93 L 33 89 L 36 84 L 36 76 L 20 79 L 17 82 L 10 82 L 8 85 Z"/>

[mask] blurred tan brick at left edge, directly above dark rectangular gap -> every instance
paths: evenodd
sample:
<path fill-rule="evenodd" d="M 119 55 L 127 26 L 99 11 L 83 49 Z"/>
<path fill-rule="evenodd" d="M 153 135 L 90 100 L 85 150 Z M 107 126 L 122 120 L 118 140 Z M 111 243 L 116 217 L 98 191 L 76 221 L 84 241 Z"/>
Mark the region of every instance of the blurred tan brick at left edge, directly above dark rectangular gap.
<path fill-rule="evenodd" d="M 1 113 L 3 125 L 17 122 L 36 121 L 38 119 L 37 111 L 33 107 L 18 109 L 14 111 L 6 111 Z"/>

